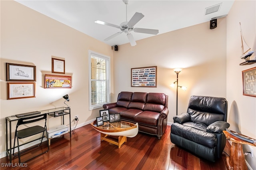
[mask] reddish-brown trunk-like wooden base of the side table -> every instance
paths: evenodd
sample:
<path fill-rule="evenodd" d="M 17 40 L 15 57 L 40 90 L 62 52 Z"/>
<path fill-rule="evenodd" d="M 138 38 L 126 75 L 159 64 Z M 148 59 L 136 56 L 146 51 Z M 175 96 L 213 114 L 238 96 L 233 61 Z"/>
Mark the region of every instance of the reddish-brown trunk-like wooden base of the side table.
<path fill-rule="evenodd" d="M 232 142 L 230 156 L 226 158 L 228 170 L 247 170 L 242 144 Z"/>

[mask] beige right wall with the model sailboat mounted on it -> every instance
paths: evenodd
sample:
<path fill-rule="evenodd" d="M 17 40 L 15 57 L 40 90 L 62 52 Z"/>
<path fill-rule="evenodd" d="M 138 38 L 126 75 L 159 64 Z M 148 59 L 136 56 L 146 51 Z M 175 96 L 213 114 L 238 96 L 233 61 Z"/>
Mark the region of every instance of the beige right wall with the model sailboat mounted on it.
<path fill-rule="evenodd" d="M 230 129 L 256 138 L 256 97 L 242 95 L 242 71 L 256 67 L 256 64 L 243 65 L 240 59 L 241 38 L 240 25 L 246 43 L 256 49 L 256 1 L 235 1 L 227 16 L 227 99 L 229 101 L 228 123 Z M 250 57 L 256 59 L 256 54 Z M 244 144 L 244 151 L 248 145 Z M 253 170 L 256 169 L 256 147 L 253 147 L 253 158 L 245 156 Z"/>

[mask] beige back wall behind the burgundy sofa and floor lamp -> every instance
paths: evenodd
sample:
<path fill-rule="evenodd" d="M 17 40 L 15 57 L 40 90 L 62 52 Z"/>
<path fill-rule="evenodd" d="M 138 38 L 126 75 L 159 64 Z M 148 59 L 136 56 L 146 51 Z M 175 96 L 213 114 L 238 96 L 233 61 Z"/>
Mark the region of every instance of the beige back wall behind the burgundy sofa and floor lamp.
<path fill-rule="evenodd" d="M 134 35 L 136 33 L 133 33 Z M 139 34 L 139 33 L 137 33 Z M 131 68 L 157 66 L 157 87 L 130 87 Z M 176 115 L 176 81 L 179 73 L 178 114 L 187 111 L 191 95 L 226 97 L 226 18 L 210 30 L 209 22 L 119 45 L 114 52 L 114 98 L 120 91 L 161 92 L 169 95 L 168 122 Z"/>

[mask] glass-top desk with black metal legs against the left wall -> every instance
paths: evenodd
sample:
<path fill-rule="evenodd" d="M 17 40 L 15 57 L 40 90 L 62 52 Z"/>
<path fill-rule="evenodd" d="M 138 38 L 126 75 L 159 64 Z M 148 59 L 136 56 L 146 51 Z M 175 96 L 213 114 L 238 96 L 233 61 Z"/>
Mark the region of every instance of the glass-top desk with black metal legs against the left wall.
<path fill-rule="evenodd" d="M 22 117 L 30 117 L 30 116 L 34 116 L 34 115 L 42 115 L 44 113 L 47 113 L 47 115 L 50 115 L 52 117 L 62 116 L 62 124 L 64 124 L 64 115 L 69 115 L 69 133 L 70 133 L 70 138 L 71 138 L 70 107 L 68 107 L 68 108 L 66 108 L 66 107 L 58 107 L 58 108 L 47 109 L 47 110 L 43 110 L 43 111 L 39 111 L 39 112 L 40 113 L 36 113 L 36 114 L 32 114 L 32 115 L 26 115 L 26 116 L 22 116 Z M 21 115 L 21 114 L 19 114 L 19 115 Z M 9 155 L 10 163 L 12 163 L 12 149 L 15 148 L 15 146 L 12 147 L 12 122 L 13 121 L 18 121 L 22 117 L 17 117 L 16 115 L 13 115 L 13 116 L 5 118 L 6 153 L 7 153 L 7 156 Z M 8 122 L 9 122 L 9 131 L 8 131 Z M 9 138 L 8 138 L 8 133 L 9 133 Z M 10 142 L 9 145 L 8 145 L 8 141 Z"/>

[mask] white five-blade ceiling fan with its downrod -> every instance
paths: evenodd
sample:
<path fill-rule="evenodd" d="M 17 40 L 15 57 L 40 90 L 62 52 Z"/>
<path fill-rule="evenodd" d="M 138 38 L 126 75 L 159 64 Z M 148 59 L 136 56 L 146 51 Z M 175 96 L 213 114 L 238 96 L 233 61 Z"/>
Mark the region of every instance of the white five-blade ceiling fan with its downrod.
<path fill-rule="evenodd" d="M 123 2 L 126 4 L 126 22 L 122 22 L 120 24 L 120 26 L 114 25 L 114 24 L 110 24 L 108 22 L 104 22 L 104 21 L 100 21 L 100 20 L 96 20 L 94 21 L 97 24 L 102 24 L 102 25 L 106 25 L 106 26 L 111 26 L 111 27 L 115 27 L 115 28 L 119 28 L 121 31 L 117 32 L 115 34 L 113 34 L 112 36 L 104 39 L 104 41 L 108 41 L 111 40 L 112 38 L 122 34 L 123 32 L 125 32 L 127 34 L 128 40 L 130 42 L 130 44 L 132 46 L 136 45 L 136 41 L 134 40 L 132 34 L 130 32 L 134 31 L 134 32 L 139 32 L 139 33 L 145 33 L 145 34 L 158 34 L 158 30 L 153 30 L 153 29 L 146 29 L 146 28 L 134 28 L 134 25 L 137 24 L 143 17 L 144 15 L 142 13 L 138 13 L 136 12 L 132 18 L 130 19 L 129 22 L 127 22 L 127 5 L 128 5 L 128 0 L 123 0 Z"/>

